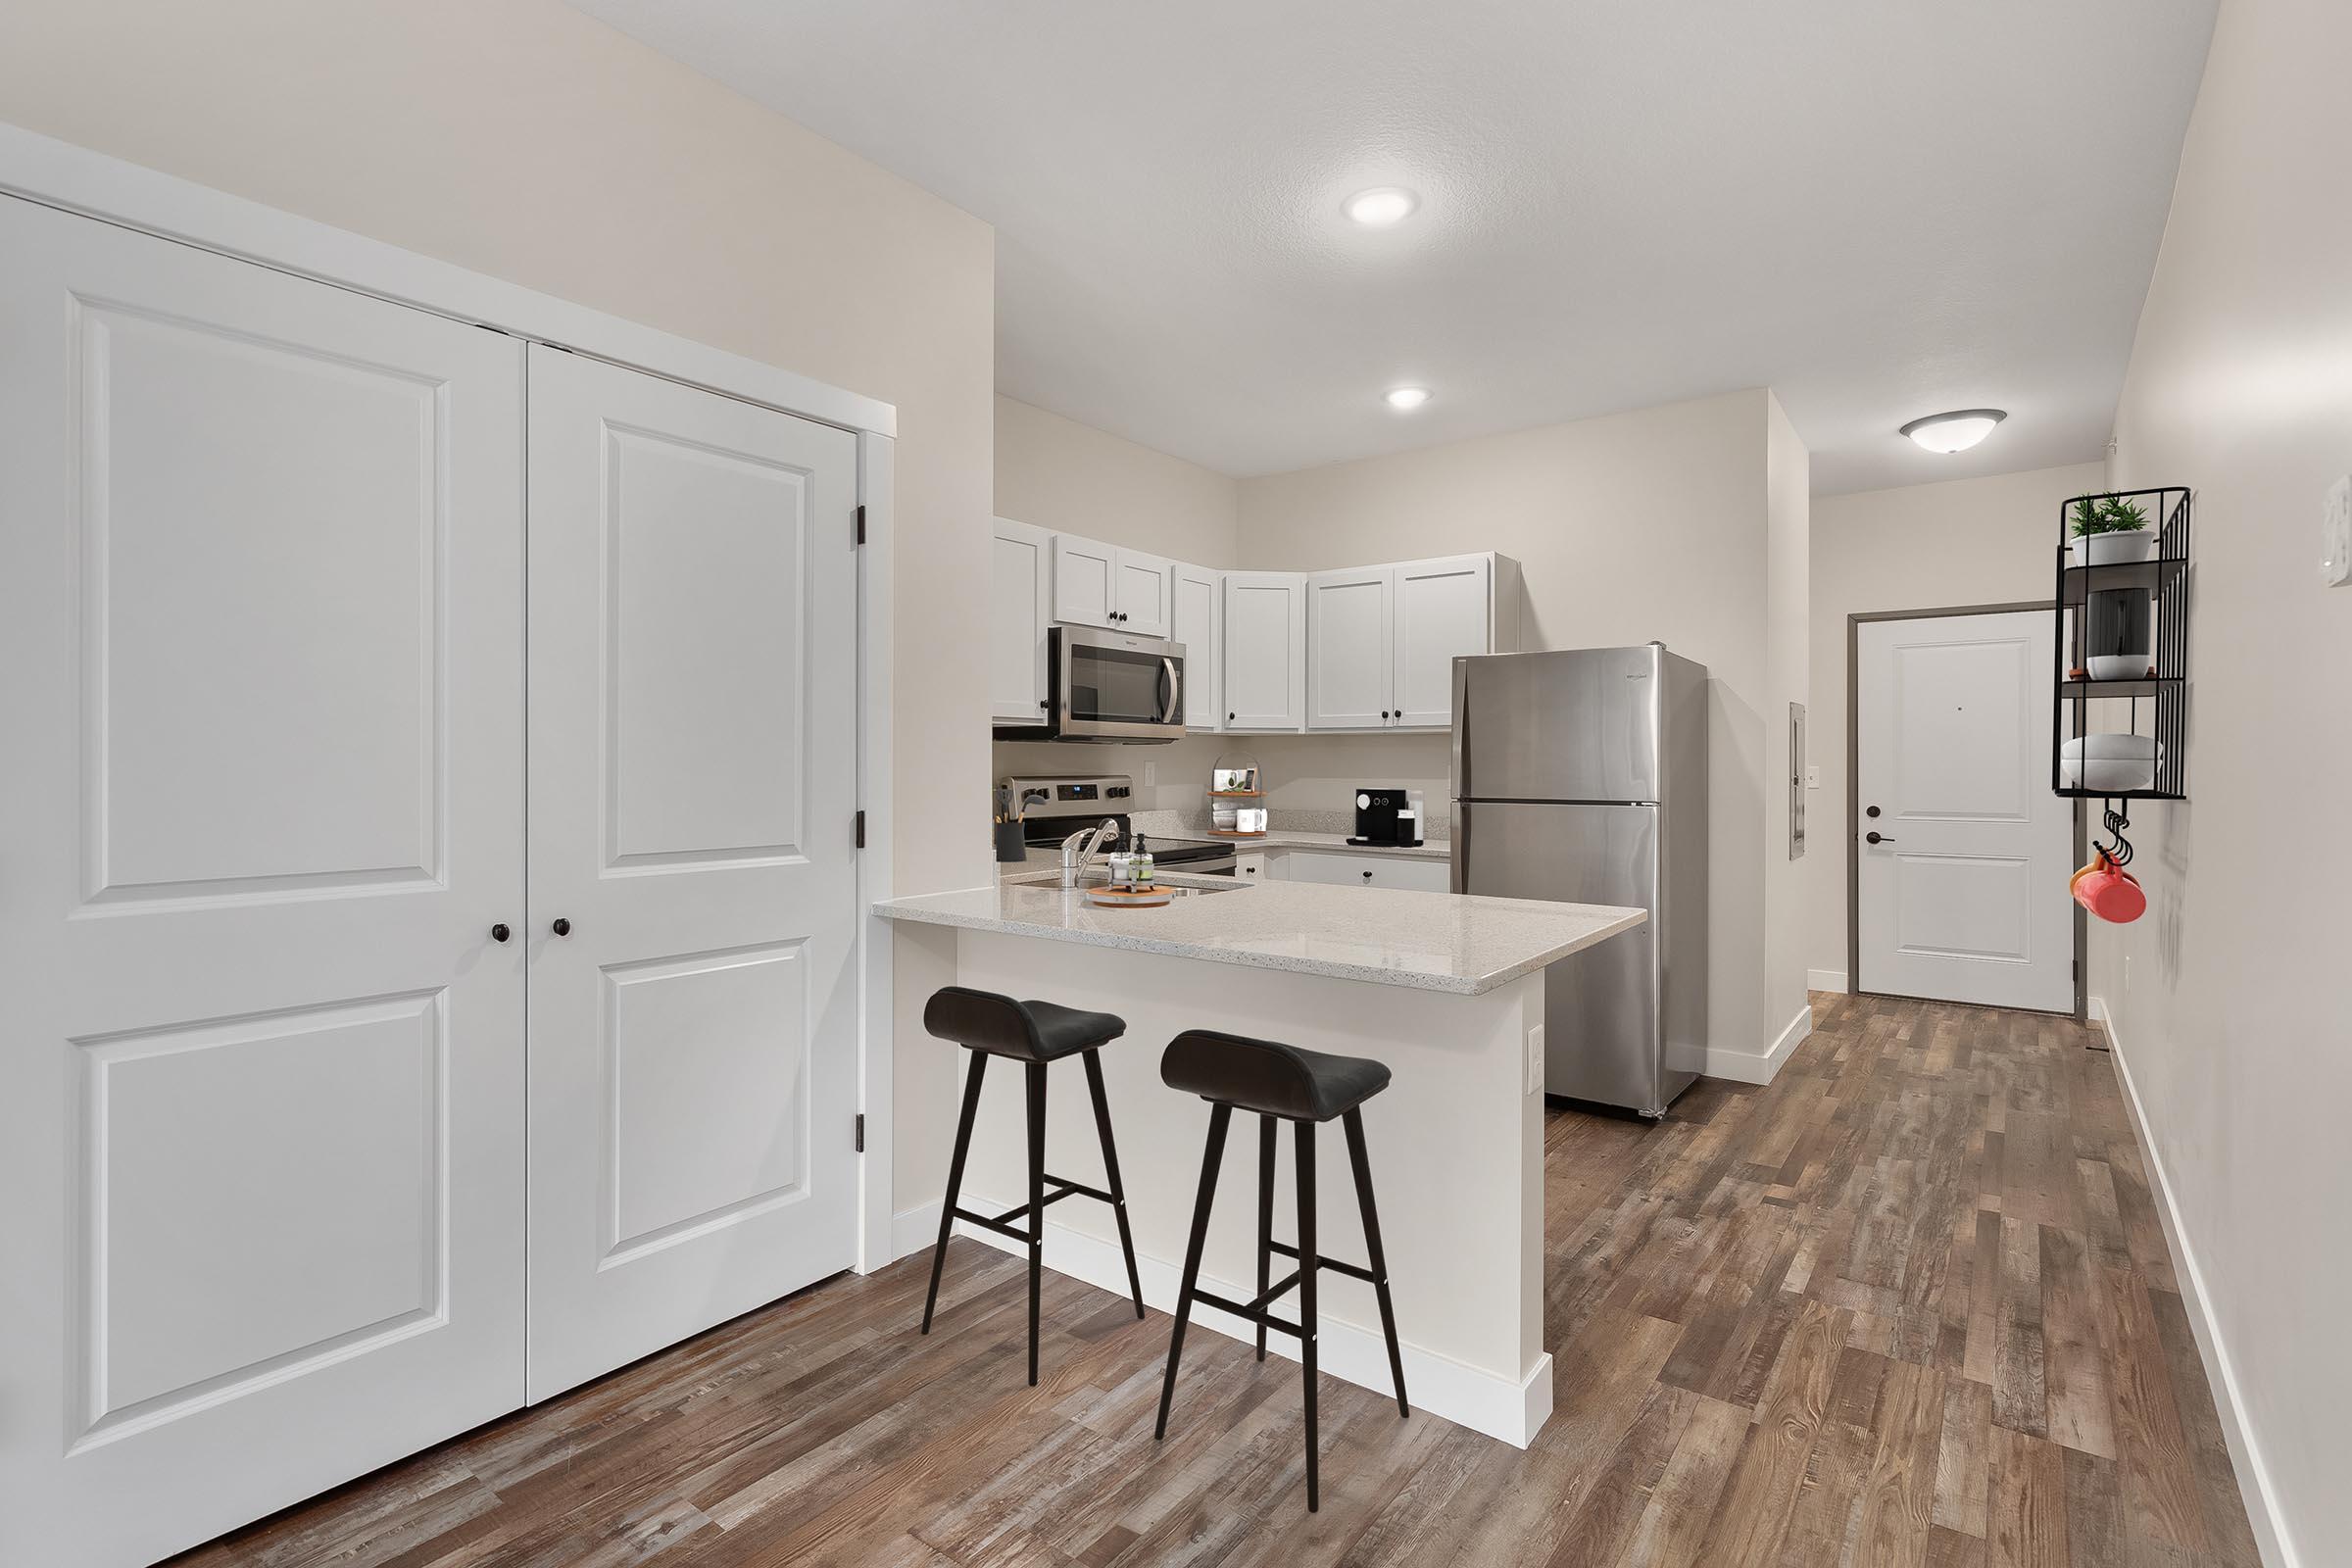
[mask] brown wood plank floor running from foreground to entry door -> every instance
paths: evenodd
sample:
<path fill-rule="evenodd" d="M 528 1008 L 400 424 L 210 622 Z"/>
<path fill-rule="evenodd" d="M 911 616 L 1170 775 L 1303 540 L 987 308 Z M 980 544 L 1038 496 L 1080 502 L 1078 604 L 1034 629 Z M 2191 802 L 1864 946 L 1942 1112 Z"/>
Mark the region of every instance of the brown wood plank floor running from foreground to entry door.
<path fill-rule="evenodd" d="M 950 1251 L 835 1279 L 183 1559 L 296 1568 L 2258 1568 L 2096 1034 L 1816 997 L 1769 1088 L 1548 1121 L 1555 1415 L 1526 1453 Z"/>

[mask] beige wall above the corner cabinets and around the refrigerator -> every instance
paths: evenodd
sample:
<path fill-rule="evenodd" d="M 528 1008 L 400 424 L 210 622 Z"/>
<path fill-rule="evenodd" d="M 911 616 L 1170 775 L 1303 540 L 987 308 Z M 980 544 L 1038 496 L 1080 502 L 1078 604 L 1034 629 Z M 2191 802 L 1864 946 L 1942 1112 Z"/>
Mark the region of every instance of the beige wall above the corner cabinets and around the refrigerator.
<path fill-rule="evenodd" d="M 1783 487 L 1776 505 L 1769 489 L 1771 454 L 1788 475 L 1802 447 L 1771 425 L 1771 393 L 1748 390 L 1242 482 L 1242 567 L 1498 550 L 1526 571 L 1524 646 L 1656 637 L 1708 665 L 1710 1034 L 1740 1053 L 1780 1034 L 1804 987 L 1795 947 L 1773 954 L 1790 973 L 1766 976 L 1764 943 L 1790 886 L 1766 865 L 1788 853 L 1771 736 L 1804 696 L 1802 668 L 1785 654 L 1773 665 L 1766 623 L 1776 602 L 1802 623 L 1806 592 L 1790 567 L 1802 496 Z M 1425 776 L 1444 778 L 1444 743 L 1425 745 Z"/>

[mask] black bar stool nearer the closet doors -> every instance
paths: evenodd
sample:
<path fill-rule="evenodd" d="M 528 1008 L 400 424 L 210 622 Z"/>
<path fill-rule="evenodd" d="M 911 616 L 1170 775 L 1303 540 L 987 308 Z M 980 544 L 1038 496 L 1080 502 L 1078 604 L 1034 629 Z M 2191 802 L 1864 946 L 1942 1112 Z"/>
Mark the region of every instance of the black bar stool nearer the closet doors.
<path fill-rule="evenodd" d="M 1110 1204 L 1112 1213 L 1120 1215 L 1127 1291 L 1136 1298 L 1136 1316 L 1143 1316 L 1136 1241 L 1127 1229 L 1127 1187 L 1120 1185 L 1120 1154 L 1110 1145 L 1110 1100 L 1103 1098 L 1103 1063 L 1096 1058 L 1096 1051 L 1127 1032 L 1127 1020 L 1112 1013 L 1082 1013 L 1051 1001 L 1014 1001 L 995 992 L 948 985 L 931 992 L 929 1006 L 922 1009 L 922 1027 L 971 1051 L 971 1072 L 964 1074 L 964 1114 L 955 1124 L 955 1159 L 948 1161 L 948 1201 L 938 1211 L 938 1248 L 931 1253 L 931 1293 L 922 1298 L 922 1331 L 931 1333 L 931 1312 L 938 1307 L 938 1272 L 948 1262 L 948 1234 L 957 1220 L 971 1220 L 1014 1241 L 1025 1241 L 1030 1253 L 1030 1382 L 1037 1382 L 1037 1274 L 1044 1267 L 1047 1204 L 1058 1204 L 1073 1192 Z M 964 1192 L 971 1117 L 981 1110 L 981 1072 L 990 1056 L 1004 1056 L 1028 1067 L 1030 1201 L 1000 1215 L 955 1206 Z M 1094 1093 L 1094 1131 L 1103 1140 L 1108 1192 L 1044 1173 L 1044 1070 L 1065 1056 L 1080 1056 L 1087 1063 L 1087 1088 Z M 1028 1229 L 1014 1225 L 1021 1215 L 1028 1215 Z"/>

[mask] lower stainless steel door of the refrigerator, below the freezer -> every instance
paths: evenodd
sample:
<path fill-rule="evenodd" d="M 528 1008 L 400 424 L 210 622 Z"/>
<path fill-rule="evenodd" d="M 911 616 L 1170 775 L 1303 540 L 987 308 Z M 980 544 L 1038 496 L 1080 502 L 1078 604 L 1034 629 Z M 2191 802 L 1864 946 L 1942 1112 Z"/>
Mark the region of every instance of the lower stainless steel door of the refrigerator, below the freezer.
<path fill-rule="evenodd" d="M 1468 802 L 1454 891 L 1658 910 L 1658 809 Z M 1571 952 L 1545 976 L 1543 1091 L 1661 1114 L 1658 926 Z"/>

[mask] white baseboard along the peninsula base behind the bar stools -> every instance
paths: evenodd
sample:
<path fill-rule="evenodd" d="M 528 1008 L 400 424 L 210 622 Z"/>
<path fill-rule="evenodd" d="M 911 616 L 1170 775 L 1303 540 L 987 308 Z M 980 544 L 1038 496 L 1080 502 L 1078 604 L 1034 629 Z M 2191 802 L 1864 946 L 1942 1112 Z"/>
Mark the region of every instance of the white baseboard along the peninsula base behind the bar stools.
<path fill-rule="evenodd" d="M 962 1201 L 962 1208 L 976 1208 L 981 1213 L 1002 1213 L 1011 1206 L 1014 1204 L 990 1199 L 978 1192 L 964 1192 Z M 931 1215 L 929 1232 L 910 1251 L 920 1251 L 938 1239 L 938 1204 L 929 1204 L 927 1211 Z M 915 1208 L 898 1215 L 901 1237 L 913 1234 L 913 1218 L 920 1213 L 924 1211 Z M 976 1225 L 957 1225 L 955 1234 L 985 1241 L 988 1246 L 1014 1255 L 1025 1255 L 1028 1251 L 1011 1237 L 1000 1237 L 997 1232 L 981 1229 Z M 1127 1258 L 1120 1253 L 1120 1244 L 1070 1229 L 1051 1218 L 1047 1218 L 1044 1227 L 1044 1265 L 1056 1274 L 1084 1279 L 1089 1286 L 1110 1291 L 1112 1295 L 1127 1295 Z M 1176 1309 L 1176 1286 L 1183 1281 L 1181 1265 L 1138 1251 L 1136 1274 L 1143 1279 L 1145 1305 L 1160 1307 L 1162 1312 Z M 1216 1279 L 1211 1274 L 1202 1274 L 1202 1286 L 1216 1291 L 1218 1295 L 1230 1295 L 1232 1300 L 1249 1300 L 1258 1293 L 1256 1286 Z M 1256 1324 L 1237 1319 L 1230 1312 L 1218 1312 L 1209 1305 L 1192 1307 L 1192 1324 L 1200 1328 L 1214 1328 L 1216 1333 L 1242 1342 L 1254 1342 L 1258 1335 Z M 1298 1347 L 1289 1340 L 1289 1335 L 1268 1335 L 1265 1347 L 1268 1354 L 1279 1354 L 1291 1361 L 1298 1359 Z M 1404 1356 L 1404 1394 L 1414 1410 L 1444 1415 L 1458 1427 L 1484 1432 L 1486 1436 L 1501 1439 L 1515 1448 L 1526 1448 L 1536 1441 L 1536 1432 L 1552 1415 L 1550 1354 L 1536 1356 L 1536 1366 L 1526 1373 L 1526 1378 L 1496 1378 L 1477 1371 L 1475 1366 L 1463 1366 L 1451 1356 L 1421 1349 L 1402 1335 L 1399 1352 Z M 1395 1387 L 1388 1380 L 1388 1342 L 1376 1328 L 1357 1328 L 1355 1324 L 1327 1316 L 1322 1321 L 1322 1338 L 1317 1345 L 1317 1366 L 1341 1382 L 1371 1389 L 1383 1399 L 1395 1394 Z M 1183 1415 L 1181 1396 L 1176 1401 L 1176 1413 Z"/>

